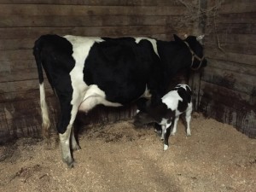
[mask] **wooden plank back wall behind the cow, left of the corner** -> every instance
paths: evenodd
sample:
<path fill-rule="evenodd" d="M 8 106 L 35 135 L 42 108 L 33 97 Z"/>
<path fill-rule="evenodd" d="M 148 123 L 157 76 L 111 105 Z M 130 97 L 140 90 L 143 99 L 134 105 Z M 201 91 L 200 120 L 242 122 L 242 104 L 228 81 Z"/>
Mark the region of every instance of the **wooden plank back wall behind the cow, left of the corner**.
<path fill-rule="evenodd" d="M 0 0 L 0 143 L 41 132 L 38 73 L 32 55 L 40 35 L 148 36 L 162 40 L 192 32 L 180 22 L 188 9 L 167 0 Z M 57 102 L 46 89 L 52 123 Z M 104 122 L 131 117 L 131 108 L 101 108 L 85 120 Z M 95 115 L 95 117 L 96 117 Z M 86 118 L 86 117 L 84 117 Z"/>

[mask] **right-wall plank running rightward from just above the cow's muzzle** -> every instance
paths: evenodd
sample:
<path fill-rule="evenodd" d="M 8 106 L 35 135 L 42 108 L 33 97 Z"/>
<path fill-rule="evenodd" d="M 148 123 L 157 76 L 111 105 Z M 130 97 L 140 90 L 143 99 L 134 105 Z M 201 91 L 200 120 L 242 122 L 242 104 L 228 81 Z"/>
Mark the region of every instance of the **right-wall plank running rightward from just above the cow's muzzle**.
<path fill-rule="evenodd" d="M 205 49 L 207 58 L 221 61 L 233 61 L 251 66 L 256 66 L 256 55 L 245 55 L 237 53 L 223 53 L 219 49 Z"/>

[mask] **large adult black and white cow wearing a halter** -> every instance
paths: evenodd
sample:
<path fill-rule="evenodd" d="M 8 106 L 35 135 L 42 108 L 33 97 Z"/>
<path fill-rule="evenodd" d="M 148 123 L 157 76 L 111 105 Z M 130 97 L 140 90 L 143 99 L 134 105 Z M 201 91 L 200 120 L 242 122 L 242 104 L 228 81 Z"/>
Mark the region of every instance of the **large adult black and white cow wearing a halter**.
<path fill-rule="evenodd" d="M 73 166 L 71 149 L 78 111 L 88 113 L 98 104 L 123 106 L 151 95 L 163 96 L 170 79 L 181 69 L 207 65 L 200 37 L 160 41 L 154 38 L 86 38 L 44 35 L 35 42 L 43 131 L 49 129 L 44 71 L 58 96 L 61 118 L 57 124 L 62 159 Z M 157 97 L 157 96 L 156 96 Z"/>

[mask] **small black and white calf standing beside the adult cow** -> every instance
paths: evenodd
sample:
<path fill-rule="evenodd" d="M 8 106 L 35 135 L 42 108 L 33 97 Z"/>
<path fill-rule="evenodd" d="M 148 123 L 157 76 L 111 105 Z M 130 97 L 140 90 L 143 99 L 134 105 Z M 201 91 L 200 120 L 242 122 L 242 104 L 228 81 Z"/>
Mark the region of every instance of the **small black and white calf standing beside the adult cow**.
<path fill-rule="evenodd" d="M 192 113 L 191 95 L 189 85 L 177 84 L 173 90 L 160 99 L 160 102 L 152 103 L 148 101 L 143 111 L 139 111 L 135 116 L 134 124 L 138 126 L 156 122 L 161 125 L 161 139 L 164 139 L 164 150 L 166 150 L 169 146 L 170 133 L 175 135 L 177 121 L 182 113 L 185 113 L 187 136 L 191 136 L 189 125 Z"/>

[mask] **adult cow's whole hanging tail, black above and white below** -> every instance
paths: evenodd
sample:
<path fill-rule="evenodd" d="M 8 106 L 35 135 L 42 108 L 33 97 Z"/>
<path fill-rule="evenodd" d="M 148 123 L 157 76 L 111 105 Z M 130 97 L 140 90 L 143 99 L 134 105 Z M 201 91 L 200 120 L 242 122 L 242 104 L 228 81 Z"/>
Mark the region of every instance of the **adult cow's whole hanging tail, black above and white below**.
<path fill-rule="evenodd" d="M 39 79 L 39 90 L 40 90 L 40 107 L 42 113 L 42 128 L 43 128 L 43 136 L 49 138 L 49 112 L 48 106 L 45 100 L 45 89 L 44 89 L 44 74 L 43 74 L 43 67 L 42 67 L 42 59 L 41 59 L 41 51 L 42 51 L 42 37 L 38 38 L 35 42 L 33 48 L 33 55 L 35 57 L 37 67 L 38 67 L 38 79 Z"/>

